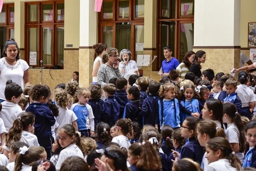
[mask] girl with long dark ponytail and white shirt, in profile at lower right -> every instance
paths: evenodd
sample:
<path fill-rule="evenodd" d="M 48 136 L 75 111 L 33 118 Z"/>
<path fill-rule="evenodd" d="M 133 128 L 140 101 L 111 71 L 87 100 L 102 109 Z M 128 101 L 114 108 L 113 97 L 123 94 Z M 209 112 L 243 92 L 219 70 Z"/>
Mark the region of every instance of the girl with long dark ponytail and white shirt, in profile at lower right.
<path fill-rule="evenodd" d="M 232 147 L 232 151 L 236 153 L 241 164 L 243 164 L 245 150 L 245 133 L 244 126 L 240 114 L 236 111 L 236 106 L 233 103 L 223 104 L 223 122 L 228 124 L 225 130 L 228 142 Z"/>

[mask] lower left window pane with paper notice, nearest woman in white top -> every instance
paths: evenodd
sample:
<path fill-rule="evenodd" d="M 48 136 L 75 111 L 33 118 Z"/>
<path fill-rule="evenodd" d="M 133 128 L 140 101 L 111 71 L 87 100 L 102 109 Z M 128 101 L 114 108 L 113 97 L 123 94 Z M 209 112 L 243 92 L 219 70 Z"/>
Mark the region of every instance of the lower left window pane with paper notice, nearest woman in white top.
<path fill-rule="evenodd" d="M 38 28 L 29 28 L 29 53 L 37 52 L 37 64 L 38 64 Z"/>

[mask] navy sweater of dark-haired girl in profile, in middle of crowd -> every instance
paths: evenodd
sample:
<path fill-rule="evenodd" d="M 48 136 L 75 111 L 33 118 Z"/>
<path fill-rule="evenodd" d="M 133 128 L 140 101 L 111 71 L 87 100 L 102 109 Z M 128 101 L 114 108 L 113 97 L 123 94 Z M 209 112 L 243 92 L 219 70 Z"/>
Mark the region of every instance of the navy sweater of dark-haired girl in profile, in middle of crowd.
<path fill-rule="evenodd" d="M 123 118 L 130 118 L 133 122 L 138 122 L 142 125 L 142 120 L 139 117 L 140 107 L 139 101 L 128 101 L 125 105 L 125 111 L 123 112 Z"/>

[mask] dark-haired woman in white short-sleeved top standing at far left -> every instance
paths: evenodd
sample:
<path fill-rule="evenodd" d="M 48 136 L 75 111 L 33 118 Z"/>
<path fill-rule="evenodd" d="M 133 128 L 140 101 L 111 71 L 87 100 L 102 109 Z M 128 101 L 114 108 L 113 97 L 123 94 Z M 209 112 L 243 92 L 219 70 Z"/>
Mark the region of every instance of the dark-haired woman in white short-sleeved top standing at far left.
<path fill-rule="evenodd" d="M 0 99 L 5 100 L 4 89 L 6 81 L 11 79 L 13 83 L 21 86 L 29 84 L 28 64 L 20 59 L 20 50 L 14 39 L 6 41 L 3 51 L 3 58 L 0 59 Z M 2 102 L 1 101 L 1 102 Z"/>

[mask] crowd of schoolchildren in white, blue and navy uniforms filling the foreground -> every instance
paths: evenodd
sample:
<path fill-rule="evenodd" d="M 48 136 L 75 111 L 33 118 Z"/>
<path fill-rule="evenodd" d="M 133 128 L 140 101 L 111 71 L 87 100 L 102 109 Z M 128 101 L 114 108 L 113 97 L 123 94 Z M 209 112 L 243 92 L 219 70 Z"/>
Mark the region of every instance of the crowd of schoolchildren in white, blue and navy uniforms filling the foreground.
<path fill-rule="evenodd" d="M 254 76 L 240 72 L 236 81 L 208 69 L 184 77 L 171 70 L 159 82 L 131 75 L 103 87 L 24 91 L 7 81 L 0 170 L 256 169 Z"/>

